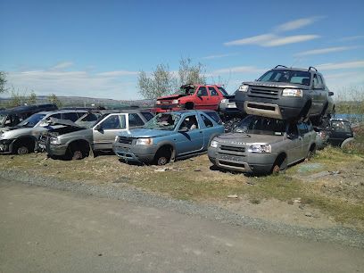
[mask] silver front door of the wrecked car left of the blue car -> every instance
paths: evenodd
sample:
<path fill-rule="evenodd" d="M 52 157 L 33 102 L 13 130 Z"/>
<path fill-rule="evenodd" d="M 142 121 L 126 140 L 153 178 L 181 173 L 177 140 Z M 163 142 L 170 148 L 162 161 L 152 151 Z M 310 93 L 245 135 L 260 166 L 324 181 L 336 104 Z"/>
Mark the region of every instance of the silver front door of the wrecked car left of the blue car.
<path fill-rule="evenodd" d="M 100 120 L 94 128 L 92 134 L 94 138 L 95 150 L 111 150 L 115 136 L 127 129 L 127 114 L 114 113 Z"/>

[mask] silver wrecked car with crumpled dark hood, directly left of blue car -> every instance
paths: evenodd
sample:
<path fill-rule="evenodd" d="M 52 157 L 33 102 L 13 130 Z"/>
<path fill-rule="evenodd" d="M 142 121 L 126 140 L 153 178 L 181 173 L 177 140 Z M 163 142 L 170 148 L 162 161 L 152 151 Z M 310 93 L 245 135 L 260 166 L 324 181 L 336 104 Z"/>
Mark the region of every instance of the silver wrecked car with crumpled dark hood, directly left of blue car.
<path fill-rule="evenodd" d="M 99 114 L 101 115 L 97 118 Z M 95 118 L 97 120 L 90 125 L 89 120 Z M 111 151 L 117 133 L 129 128 L 142 127 L 151 118 L 153 118 L 151 112 L 125 110 L 90 112 L 74 124 L 56 120 L 56 124 L 65 125 L 65 127 L 52 130 L 43 145 L 45 145 L 46 153 L 52 157 L 65 156 L 72 160 L 79 160 L 87 157 L 91 151 L 93 153 Z"/>

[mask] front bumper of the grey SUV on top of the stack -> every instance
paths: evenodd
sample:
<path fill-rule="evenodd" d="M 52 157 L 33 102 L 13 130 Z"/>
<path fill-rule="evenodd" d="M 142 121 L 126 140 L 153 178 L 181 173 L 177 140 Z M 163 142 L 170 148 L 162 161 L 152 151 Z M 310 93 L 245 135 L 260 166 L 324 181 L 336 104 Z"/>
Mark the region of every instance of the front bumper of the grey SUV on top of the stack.
<path fill-rule="evenodd" d="M 272 99 L 239 94 L 236 95 L 236 107 L 251 115 L 289 120 L 300 116 L 308 99 L 306 95 L 303 97 L 278 96 L 276 99 Z"/>

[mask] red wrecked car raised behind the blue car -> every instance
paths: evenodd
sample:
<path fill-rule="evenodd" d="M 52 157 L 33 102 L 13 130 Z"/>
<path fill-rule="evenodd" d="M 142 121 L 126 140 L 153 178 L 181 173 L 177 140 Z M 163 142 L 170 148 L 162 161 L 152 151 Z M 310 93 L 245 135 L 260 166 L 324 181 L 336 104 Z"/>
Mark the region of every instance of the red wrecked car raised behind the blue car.
<path fill-rule="evenodd" d="M 153 111 L 170 112 L 181 109 L 209 109 L 217 111 L 227 91 L 217 85 L 185 85 L 173 95 L 157 98 Z"/>

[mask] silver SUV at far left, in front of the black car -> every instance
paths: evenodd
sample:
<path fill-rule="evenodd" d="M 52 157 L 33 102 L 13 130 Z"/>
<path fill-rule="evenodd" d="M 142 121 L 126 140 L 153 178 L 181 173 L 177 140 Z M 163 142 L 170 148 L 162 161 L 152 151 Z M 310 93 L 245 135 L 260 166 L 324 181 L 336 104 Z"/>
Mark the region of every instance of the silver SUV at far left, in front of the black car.
<path fill-rule="evenodd" d="M 53 112 L 38 112 L 28 119 L 22 120 L 12 128 L 0 130 L 0 153 L 25 154 L 34 152 L 39 135 L 49 129 L 51 118 L 63 120 L 78 120 L 85 110 L 59 110 Z"/>

